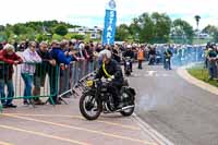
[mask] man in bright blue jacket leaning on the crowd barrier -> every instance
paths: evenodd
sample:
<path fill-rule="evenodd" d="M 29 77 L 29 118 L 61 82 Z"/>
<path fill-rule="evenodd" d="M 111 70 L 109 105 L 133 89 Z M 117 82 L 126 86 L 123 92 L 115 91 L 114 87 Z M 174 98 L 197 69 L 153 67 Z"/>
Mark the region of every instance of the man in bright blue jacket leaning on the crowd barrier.
<path fill-rule="evenodd" d="M 58 99 L 58 78 L 59 78 L 59 68 L 60 63 L 70 64 L 71 57 L 66 57 L 63 50 L 60 48 L 60 44 L 57 40 L 53 40 L 51 44 L 50 57 L 56 60 L 57 65 L 50 65 L 49 69 L 49 83 L 50 83 L 50 95 L 56 105 L 61 105 L 60 100 Z M 52 101 L 49 99 L 49 102 Z"/>

